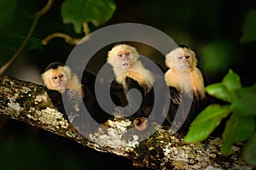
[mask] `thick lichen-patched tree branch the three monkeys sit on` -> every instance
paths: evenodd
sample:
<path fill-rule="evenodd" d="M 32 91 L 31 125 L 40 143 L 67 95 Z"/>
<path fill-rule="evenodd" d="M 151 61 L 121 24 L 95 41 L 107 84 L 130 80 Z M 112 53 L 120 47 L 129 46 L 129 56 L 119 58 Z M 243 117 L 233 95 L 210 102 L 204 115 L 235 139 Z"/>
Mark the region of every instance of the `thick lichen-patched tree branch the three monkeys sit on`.
<path fill-rule="evenodd" d="M 218 138 L 186 144 L 159 126 L 141 143 L 139 137 L 122 139 L 125 127 L 132 124 L 125 118 L 108 121 L 108 128 L 100 127 L 96 133 L 90 134 L 90 139 L 85 139 L 51 103 L 46 88 L 13 77 L 0 77 L 0 115 L 73 139 L 95 150 L 125 156 L 132 159 L 136 167 L 252 169 L 241 159 L 241 145 L 233 147 L 232 156 L 222 156 L 222 141 Z"/>

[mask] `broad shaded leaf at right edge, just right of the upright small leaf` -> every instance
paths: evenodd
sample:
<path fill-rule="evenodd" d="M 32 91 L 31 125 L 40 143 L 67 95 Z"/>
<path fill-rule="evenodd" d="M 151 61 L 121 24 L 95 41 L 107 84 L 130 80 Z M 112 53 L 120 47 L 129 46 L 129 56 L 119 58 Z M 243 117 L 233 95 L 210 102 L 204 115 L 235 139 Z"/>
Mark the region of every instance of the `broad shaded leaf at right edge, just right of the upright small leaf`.
<path fill-rule="evenodd" d="M 256 84 L 248 88 L 236 90 L 237 98 L 230 107 L 240 116 L 256 116 Z"/>

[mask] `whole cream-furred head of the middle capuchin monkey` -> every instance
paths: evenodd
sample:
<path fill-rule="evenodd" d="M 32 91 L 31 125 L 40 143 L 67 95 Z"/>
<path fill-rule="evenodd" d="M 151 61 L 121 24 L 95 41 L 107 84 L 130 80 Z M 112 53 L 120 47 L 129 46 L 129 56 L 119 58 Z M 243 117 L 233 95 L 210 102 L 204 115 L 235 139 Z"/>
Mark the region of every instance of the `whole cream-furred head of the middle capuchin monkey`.
<path fill-rule="evenodd" d="M 138 58 L 137 49 L 126 44 L 119 44 L 114 46 L 108 51 L 108 63 L 113 67 L 119 67 L 126 70 L 137 61 Z"/>

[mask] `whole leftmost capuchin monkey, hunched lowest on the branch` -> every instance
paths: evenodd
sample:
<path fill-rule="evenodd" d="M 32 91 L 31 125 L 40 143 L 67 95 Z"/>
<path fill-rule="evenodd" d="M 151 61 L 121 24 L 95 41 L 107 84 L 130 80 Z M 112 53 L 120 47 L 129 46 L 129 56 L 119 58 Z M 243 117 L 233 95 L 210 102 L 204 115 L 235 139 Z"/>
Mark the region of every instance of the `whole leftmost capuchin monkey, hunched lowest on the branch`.
<path fill-rule="evenodd" d="M 42 79 L 48 88 L 50 99 L 59 111 L 80 130 L 88 128 L 90 125 L 83 114 L 84 111 L 81 110 L 81 105 L 85 105 L 91 113 L 95 111 L 95 99 L 89 88 L 79 82 L 77 74 L 67 65 L 53 62 L 45 69 Z M 67 104 L 65 107 L 62 99 L 65 99 Z"/>

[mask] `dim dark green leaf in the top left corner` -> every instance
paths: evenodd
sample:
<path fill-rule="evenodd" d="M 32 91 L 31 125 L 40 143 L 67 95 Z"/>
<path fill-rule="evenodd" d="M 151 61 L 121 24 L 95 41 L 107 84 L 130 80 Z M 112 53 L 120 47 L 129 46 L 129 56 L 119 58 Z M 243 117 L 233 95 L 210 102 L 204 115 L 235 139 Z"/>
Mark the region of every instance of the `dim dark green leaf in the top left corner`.
<path fill-rule="evenodd" d="M 0 28 L 11 24 L 16 7 L 17 0 L 0 0 Z"/>

